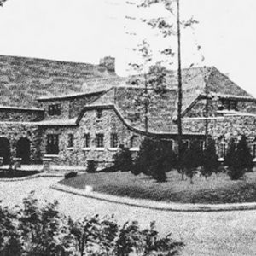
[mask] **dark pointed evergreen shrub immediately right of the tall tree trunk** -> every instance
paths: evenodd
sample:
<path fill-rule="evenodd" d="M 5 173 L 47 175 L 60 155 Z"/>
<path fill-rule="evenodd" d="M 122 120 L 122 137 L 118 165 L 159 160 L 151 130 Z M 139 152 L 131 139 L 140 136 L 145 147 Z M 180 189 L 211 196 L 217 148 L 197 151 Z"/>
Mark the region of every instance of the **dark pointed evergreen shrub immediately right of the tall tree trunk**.
<path fill-rule="evenodd" d="M 193 183 L 193 177 L 195 176 L 196 169 L 201 166 L 202 152 L 198 140 L 193 140 L 190 147 L 184 150 L 181 157 L 181 166 L 184 173 L 190 179 L 190 183 Z"/>

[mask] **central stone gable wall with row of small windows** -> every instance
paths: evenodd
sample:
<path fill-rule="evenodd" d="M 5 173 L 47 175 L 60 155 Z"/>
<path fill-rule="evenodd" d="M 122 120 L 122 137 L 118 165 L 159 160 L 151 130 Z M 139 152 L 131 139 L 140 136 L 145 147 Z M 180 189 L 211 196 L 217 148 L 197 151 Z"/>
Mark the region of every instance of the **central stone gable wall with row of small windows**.
<path fill-rule="evenodd" d="M 102 118 L 96 118 L 96 110 L 84 113 L 79 127 L 52 127 L 43 132 L 42 154 L 45 156 L 46 138 L 48 134 L 59 134 L 59 155 L 53 158 L 55 164 L 69 166 L 86 166 L 87 160 L 96 160 L 99 164 L 113 161 L 117 148 L 110 148 L 110 134 L 118 134 L 118 143 L 130 147 L 131 137 L 137 136 L 141 142 L 142 136 L 127 129 L 113 109 L 102 111 Z M 84 134 L 90 133 L 90 148 L 84 148 Z M 104 134 L 104 148 L 96 148 L 96 133 Z M 68 134 L 73 134 L 73 148 L 68 148 Z"/>

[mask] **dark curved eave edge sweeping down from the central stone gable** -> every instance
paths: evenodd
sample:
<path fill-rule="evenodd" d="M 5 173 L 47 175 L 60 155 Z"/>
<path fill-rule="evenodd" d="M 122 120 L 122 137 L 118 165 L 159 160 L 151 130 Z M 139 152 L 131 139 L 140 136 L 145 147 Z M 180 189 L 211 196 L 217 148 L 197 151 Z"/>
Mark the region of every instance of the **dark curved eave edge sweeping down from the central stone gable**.
<path fill-rule="evenodd" d="M 140 130 L 138 128 L 133 127 L 132 125 L 128 124 L 124 117 L 122 116 L 121 113 L 119 113 L 119 110 L 116 108 L 116 106 L 114 104 L 106 104 L 106 105 L 91 105 L 91 106 L 85 106 L 83 108 L 83 110 L 81 111 L 81 113 L 79 114 L 79 117 L 76 121 L 77 125 L 79 125 L 80 120 L 83 118 L 84 113 L 86 112 L 86 110 L 93 110 L 93 109 L 113 109 L 113 111 L 117 114 L 117 116 L 119 117 L 120 121 L 123 123 L 123 125 L 126 126 L 127 129 L 129 129 L 130 131 L 136 132 L 138 134 L 141 134 L 143 136 L 149 136 L 149 137 L 177 137 L 178 134 L 177 133 L 170 133 L 170 132 L 152 132 L 152 131 L 143 131 Z M 196 136 L 196 137 L 204 137 L 204 134 L 199 134 L 199 133 L 189 133 L 189 134 L 183 134 L 184 137 L 188 137 L 188 136 Z"/>

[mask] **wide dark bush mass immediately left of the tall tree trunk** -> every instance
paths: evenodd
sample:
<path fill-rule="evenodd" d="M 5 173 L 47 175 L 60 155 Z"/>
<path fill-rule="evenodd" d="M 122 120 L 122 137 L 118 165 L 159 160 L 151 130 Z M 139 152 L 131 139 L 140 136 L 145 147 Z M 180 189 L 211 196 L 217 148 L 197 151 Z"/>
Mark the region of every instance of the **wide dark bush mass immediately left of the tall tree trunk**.
<path fill-rule="evenodd" d="M 172 143 L 146 137 L 140 146 L 133 173 L 143 172 L 158 182 L 165 182 L 166 172 L 172 170 L 176 160 Z"/>

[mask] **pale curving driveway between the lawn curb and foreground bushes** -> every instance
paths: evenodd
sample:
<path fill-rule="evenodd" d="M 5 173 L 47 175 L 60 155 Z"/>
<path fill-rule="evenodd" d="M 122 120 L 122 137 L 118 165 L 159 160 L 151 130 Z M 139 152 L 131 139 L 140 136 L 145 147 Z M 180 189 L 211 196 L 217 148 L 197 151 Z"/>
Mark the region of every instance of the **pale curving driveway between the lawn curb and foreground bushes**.
<path fill-rule="evenodd" d="M 163 212 L 144 208 L 98 201 L 83 196 L 67 194 L 50 189 L 58 177 L 1 182 L 0 200 L 3 205 L 20 204 L 30 191 L 40 201 L 59 201 L 59 209 L 73 218 L 84 215 L 101 216 L 114 214 L 119 224 L 137 220 L 143 227 L 156 221 L 161 234 L 172 233 L 177 240 L 185 242 L 182 255 L 255 255 L 256 211 L 242 212 Z"/>

